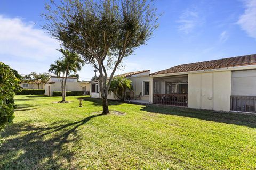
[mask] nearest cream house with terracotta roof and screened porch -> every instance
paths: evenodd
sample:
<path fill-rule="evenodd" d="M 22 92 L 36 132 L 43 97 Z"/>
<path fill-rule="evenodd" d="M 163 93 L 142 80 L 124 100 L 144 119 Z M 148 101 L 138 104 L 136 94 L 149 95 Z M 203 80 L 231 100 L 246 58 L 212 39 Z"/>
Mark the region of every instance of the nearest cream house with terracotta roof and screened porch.
<path fill-rule="evenodd" d="M 150 74 L 150 103 L 256 112 L 256 54 L 182 64 Z"/>

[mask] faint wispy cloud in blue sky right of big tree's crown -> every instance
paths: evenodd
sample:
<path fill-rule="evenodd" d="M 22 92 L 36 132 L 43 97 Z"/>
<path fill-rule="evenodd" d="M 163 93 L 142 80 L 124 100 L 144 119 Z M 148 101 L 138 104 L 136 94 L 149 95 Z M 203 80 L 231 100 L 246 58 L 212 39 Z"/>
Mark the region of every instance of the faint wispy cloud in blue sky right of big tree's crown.
<path fill-rule="evenodd" d="M 178 30 L 186 34 L 190 33 L 199 24 L 199 15 L 195 10 L 185 10 L 177 23 L 180 23 Z"/>

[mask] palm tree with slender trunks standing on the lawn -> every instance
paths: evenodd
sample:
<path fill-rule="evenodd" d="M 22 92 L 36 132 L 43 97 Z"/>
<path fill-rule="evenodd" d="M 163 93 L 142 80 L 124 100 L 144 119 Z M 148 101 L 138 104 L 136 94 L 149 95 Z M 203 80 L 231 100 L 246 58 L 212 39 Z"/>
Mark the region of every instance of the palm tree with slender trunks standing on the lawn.
<path fill-rule="evenodd" d="M 62 90 L 60 103 L 65 103 L 68 75 L 70 73 L 76 74 L 77 71 L 80 71 L 84 65 L 84 60 L 77 53 L 70 52 L 67 49 L 61 48 L 59 51 L 63 54 L 63 57 L 50 65 L 49 72 L 59 77 Z"/>

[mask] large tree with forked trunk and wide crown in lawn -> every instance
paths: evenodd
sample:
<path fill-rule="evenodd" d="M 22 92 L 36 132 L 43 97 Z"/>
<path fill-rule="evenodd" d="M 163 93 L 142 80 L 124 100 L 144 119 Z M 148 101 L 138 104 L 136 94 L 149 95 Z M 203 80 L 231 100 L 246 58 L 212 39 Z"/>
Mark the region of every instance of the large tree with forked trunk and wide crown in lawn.
<path fill-rule="evenodd" d="M 46 4 L 44 29 L 99 71 L 103 114 L 108 89 L 124 57 L 146 44 L 157 28 L 156 9 L 147 0 L 63 0 Z M 107 72 L 110 72 L 108 76 Z M 108 79 L 109 77 L 109 79 Z"/>

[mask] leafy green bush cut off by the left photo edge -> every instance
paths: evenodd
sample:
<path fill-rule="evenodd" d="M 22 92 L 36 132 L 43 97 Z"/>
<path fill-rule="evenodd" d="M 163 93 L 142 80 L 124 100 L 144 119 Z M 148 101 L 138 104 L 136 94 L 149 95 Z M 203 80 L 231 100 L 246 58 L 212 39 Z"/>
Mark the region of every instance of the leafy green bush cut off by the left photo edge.
<path fill-rule="evenodd" d="M 20 80 L 15 76 L 13 70 L 0 62 L 0 131 L 4 126 L 13 122 L 15 91 L 18 92 Z"/>

